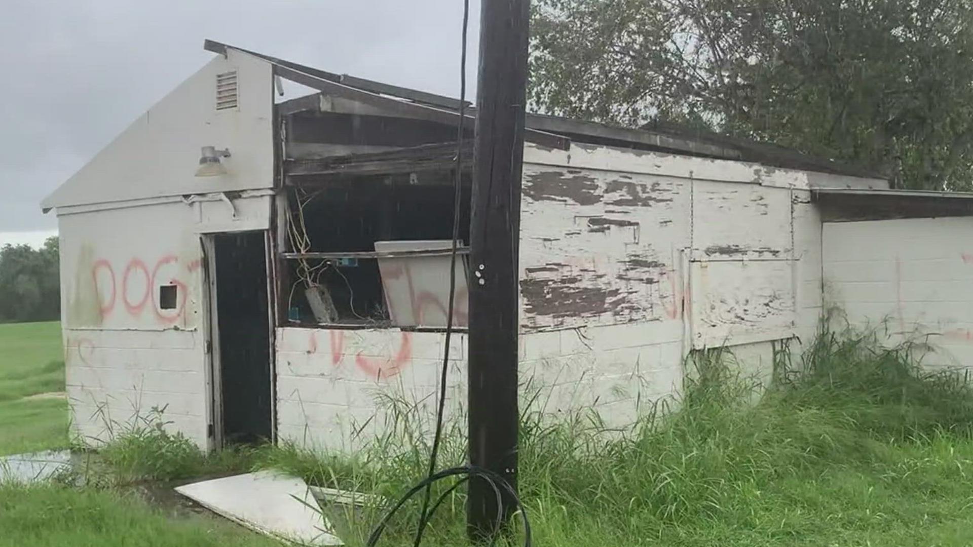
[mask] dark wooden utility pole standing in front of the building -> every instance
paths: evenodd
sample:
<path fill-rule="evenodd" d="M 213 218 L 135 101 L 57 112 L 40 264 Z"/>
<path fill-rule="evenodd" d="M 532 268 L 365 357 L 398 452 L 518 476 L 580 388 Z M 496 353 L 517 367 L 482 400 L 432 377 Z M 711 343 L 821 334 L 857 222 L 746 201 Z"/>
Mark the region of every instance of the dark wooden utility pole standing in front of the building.
<path fill-rule="evenodd" d="M 470 225 L 470 464 L 517 488 L 518 294 L 529 0 L 483 0 Z M 515 505 L 470 481 L 467 529 L 482 539 Z"/>

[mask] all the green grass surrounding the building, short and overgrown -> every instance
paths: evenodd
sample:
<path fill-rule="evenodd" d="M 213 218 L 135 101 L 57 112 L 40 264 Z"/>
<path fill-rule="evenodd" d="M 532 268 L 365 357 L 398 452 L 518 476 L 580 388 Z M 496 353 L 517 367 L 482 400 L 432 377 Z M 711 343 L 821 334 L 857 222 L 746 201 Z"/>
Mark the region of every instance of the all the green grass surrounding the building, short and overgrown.
<path fill-rule="evenodd" d="M 5 450 L 63 444 L 63 407 L 45 406 L 60 402 L 22 399 L 61 385 L 54 365 L 45 366 L 59 356 L 56 325 L 0 325 L 0 337 L 17 348 L 4 355 L 0 376 L 0 435 L 18 435 L 14 443 L 0 437 Z M 524 418 L 519 481 L 535 545 L 973 545 L 973 385 L 962 377 L 925 372 L 909 347 L 853 333 L 825 333 L 800 366 L 782 360 L 767 389 L 739 377 L 732 356 L 718 351 L 698 353 L 687 367 L 678 410 L 625 435 L 605 434 L 586 413 Z M 410 412 L 354 456 L 289 446 L 204 455 L 178 435 L 135 428 L 100 452 L 104 476 L 91 486 L 0 485 L 0 547 L 273 545 L 215 517 L 150 505 L 131 485 L 169 492 L 175 480 L 271 466 L 394 499 L 426 471 L 428 432 Z M 441 467 L 465 460 L 456 425 Z M 464 489 L 449 487 L 433 489 L 445 502 L 426 547 L 467 543 Z M 380 545 L 412 544 L 417 498 L 388 522 Z M 338 517 L 340 535 L 356 546 L 381 513 Z"/>

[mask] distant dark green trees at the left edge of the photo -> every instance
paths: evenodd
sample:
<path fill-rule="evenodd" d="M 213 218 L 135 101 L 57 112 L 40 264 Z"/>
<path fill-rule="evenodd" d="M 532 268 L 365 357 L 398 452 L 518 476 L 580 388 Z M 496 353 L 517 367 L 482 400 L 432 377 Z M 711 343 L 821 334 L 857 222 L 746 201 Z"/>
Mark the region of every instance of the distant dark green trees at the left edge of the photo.
<path fill-rule="evenodd" d="M 57 237 L 44 246 L 0 249 L 0 322 L 44 321 L 60 315 Z"/>

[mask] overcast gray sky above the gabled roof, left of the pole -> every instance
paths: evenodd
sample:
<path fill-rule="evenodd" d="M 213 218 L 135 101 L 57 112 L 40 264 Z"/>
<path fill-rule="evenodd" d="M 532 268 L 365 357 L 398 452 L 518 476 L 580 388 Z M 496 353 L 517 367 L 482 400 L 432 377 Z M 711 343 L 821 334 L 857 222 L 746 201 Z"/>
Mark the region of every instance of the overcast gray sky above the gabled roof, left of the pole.
<path fill-rule="evenodd" d="M 461 18 L 461 0 L 5 0 L 0 238 L 55 228 L 38 201 L 211 58 L 204 38 L 458 95 Z"/>

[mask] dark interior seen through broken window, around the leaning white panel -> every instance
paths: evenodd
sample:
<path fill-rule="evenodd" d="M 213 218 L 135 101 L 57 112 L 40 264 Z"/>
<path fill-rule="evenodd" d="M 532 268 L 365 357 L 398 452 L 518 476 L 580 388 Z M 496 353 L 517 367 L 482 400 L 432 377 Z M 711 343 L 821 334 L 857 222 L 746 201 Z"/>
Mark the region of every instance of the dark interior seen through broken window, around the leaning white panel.
<path fill-rule="evenodd" d="M 449 240 L 452 177 L 449 171 L 426 171 L 329 177 L 295 186 L 289 196 L 292 230 L 288 250 L 375 251 L 376 241 Z M 464 175 L 459 218 L 463 243 L 469 240 L 469 184 Z M 305 248 L 301 248 L 301 239 Z M 305 296 L 308 278 L 327 289 L 338 313 L 336 322 L 388 323 L 376 259 L 288 260 L 286 274 L 288 318 L 293 323 L 320 322 Z"/>

